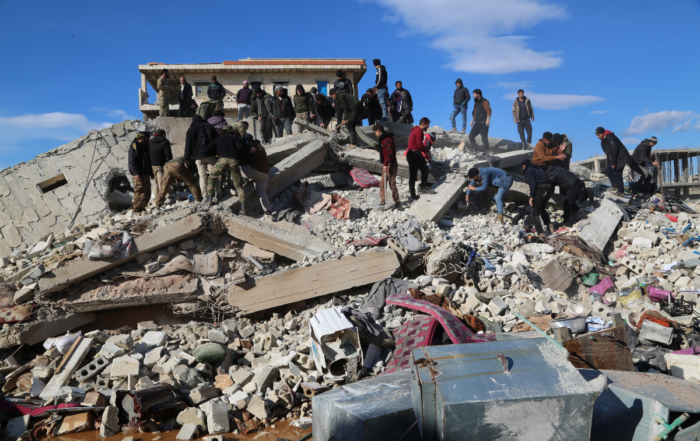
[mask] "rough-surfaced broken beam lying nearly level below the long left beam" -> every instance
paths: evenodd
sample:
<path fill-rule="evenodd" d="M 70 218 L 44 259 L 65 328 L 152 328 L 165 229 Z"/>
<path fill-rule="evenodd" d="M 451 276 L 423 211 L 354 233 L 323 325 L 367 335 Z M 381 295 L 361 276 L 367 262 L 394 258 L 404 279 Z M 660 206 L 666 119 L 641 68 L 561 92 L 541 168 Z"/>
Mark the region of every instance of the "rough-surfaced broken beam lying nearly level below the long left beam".
<path fill-rule="evenodd" d="M 200 294 L 198 279 L 192 274 L 139 278 L 114 285 L 94 285 L 68 296 L 65 307 L 74 312 L 89 312 L 157 303 L 188 302 Z"/>

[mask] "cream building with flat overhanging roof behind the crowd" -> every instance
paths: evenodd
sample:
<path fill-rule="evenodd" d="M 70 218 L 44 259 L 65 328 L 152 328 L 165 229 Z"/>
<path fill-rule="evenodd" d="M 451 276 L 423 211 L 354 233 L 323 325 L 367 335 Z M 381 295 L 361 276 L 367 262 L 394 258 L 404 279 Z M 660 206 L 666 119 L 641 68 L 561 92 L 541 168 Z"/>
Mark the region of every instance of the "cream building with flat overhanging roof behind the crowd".
<path fill-rule="evenodd" d="M 199 105 L 208 99 L 207 87 L 211 82 L 211 76 L 216 75 L 217 80 L 226 89 L 224 112 L 228 118 L 233 118 L 238 116 L 236 93 L 243 87 L 244 80 L 248 80 L 252 88 L 261 87 L 268 93 L 271 93 L 275 86 L 281 85 L 287 88 L 291 96 L 294 94 L 297 84 L 301 84 L 306 91 L 316 87 L 319 93 L 327 95 L 336 80 L 336 71 L 341 69 L 346 78 L 352 81 L 355 96 L 358 96 L 357 85 L 367 71 L 367 63 L 362 58 L 248 58 L 238 61 L 224 61 L 223 63 L 148 63 L 139 65 L 139 72 L 141 72 L 139 109 L 143 113 L 144 120 L 158 116 L 158 97 L 149 95 L 148 85 L 150 84 L 152 90 L 157 92 L 158 78 L 163 69 L 168 69 L 170 76 L 170 96 L 174 101 L 170 104 L 171 116 L 175 116 L 179 109 L 177 95 L 181 76 L 184 76 L 187 82 L 192 85 L 195 101 Z"/>

